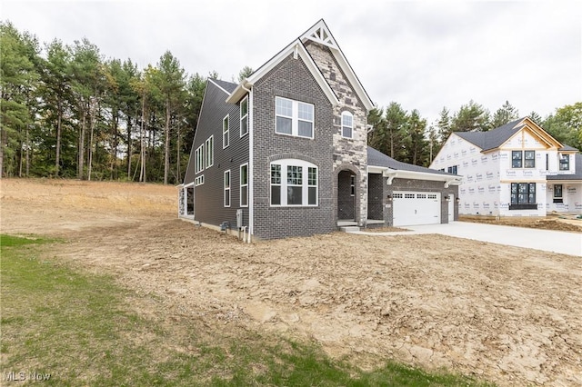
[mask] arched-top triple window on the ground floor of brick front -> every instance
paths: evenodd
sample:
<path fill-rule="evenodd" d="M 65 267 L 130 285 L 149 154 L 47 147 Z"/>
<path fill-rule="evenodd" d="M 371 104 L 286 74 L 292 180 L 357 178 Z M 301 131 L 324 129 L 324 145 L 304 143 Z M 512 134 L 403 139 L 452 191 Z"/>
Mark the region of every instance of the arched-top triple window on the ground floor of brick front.
<path fill-rule="evenodd" d="M 271 205 L 316 206 L 317 167 L 301 160 L 271 163 Z"/>

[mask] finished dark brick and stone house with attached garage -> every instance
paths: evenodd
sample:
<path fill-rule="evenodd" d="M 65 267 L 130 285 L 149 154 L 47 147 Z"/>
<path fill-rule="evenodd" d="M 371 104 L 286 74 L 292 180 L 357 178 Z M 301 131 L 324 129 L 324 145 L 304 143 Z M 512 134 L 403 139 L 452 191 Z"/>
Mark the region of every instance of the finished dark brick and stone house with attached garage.
<path fill-rule="evenodd" d="M 258 239 L 453 220 L 458 176 L 368 147 L 373 107 L 324 20 L 240 84 L 209 79 L 179 216 Z"/>

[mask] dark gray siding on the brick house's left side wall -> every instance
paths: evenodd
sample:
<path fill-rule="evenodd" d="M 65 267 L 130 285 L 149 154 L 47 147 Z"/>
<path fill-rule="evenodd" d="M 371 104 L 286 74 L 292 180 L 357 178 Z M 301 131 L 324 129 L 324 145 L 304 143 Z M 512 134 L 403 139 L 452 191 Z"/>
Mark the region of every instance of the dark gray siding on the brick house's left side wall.
<path fill-rule="evenodd" d="M 214 225 L 228 222 L 236 228 L 240 207 L 240 165 L 248 163 L 248 134 L 240 137 L 240 106 L 226 104 L 228 95 L 211 81 L 207 83 L 196 137 L 190 154 L 188 172 L 195 171 L 195 151 L 214 134 L 214 164 L 204 174 L 204 184 L 195 187 L 196 221 Z M 223 149 L 223 119 L 229 114 L 230 141 Z M 224 206 L 224 173 L 230 170 L 230 207 Z M 194 178 L 200 174 L 194 174 Z M 194 179 L 192 179 L 194 180 Z M 248 207 L 243 208 L 243 225 L 248 226 Z"/>

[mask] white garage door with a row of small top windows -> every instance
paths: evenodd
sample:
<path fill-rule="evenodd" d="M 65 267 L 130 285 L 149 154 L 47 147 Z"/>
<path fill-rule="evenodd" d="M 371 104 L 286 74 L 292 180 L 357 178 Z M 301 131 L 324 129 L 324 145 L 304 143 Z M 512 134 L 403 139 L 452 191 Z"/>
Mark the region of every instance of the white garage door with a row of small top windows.
<path fill-rule="evenodd" d="M 440 193 L 395 191 L 395 226 L 440 223 Z"/>

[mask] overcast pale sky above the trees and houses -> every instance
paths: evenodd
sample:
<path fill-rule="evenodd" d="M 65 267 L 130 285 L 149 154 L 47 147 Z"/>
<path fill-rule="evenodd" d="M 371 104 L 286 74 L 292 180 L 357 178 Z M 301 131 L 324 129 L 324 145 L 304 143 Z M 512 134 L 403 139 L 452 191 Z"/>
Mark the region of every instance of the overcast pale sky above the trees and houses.
<path fill-rule="evenodd" d="M 41 43 L 84 37 L 106 58 L 234 81 L 323 18 L 376 107 L 434 124 L 473 100 L 542 117 L 582 102 L 581 1 L 2 0 L 0 19 Z"/>

